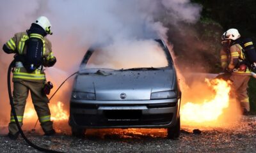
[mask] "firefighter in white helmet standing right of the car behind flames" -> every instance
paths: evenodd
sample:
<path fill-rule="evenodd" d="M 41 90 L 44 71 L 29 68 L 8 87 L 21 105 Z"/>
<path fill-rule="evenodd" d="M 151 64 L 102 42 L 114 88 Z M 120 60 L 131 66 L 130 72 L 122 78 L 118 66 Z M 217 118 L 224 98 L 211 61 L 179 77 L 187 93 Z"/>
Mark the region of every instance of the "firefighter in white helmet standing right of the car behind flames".
<path fill-rule="evenodd" d="M 231 75 L 232 87 L 236 91 L 238 101 L 241 103 L 243 114 L 246 115 L 250 112 L 247 88 L 251 73 L 245 64 L 241 64 L 245 57 L 243 48 L 239 45 L 240 37 L 237 29 L 228 29 L 222 35 L 223 48 L 220 51 L 220 59 L 223 70 Z"/>

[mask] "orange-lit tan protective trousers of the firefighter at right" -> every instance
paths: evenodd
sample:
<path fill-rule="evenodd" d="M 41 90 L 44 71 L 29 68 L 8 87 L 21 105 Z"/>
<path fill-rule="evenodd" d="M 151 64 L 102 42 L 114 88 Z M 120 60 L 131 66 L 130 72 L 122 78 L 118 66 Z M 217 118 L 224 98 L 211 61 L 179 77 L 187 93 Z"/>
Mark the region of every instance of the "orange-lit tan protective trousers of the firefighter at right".
<path fill-rule="evenodd" d="M 232 87 L 236 91 L 237 99 L 240 101 L 242 108 L 250 111 L 250 103 L 248 98 L 248 82 L 250 76 L 248 75 L 232 75 L 230 77 L 232 81 Z"/>

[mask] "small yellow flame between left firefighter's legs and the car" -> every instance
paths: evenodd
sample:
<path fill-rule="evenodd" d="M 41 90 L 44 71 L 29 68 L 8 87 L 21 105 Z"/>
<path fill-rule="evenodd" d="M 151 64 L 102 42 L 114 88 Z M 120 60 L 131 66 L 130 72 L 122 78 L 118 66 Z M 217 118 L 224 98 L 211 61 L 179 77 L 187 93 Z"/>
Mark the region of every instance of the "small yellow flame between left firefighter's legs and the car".
<path fill-rule="evenodd" d="M 68 113 L 63 110 L 61 101 L 58 101 L 57 105 L 51 106 L 51 113 L 51 120 L 68 120 Z"/>

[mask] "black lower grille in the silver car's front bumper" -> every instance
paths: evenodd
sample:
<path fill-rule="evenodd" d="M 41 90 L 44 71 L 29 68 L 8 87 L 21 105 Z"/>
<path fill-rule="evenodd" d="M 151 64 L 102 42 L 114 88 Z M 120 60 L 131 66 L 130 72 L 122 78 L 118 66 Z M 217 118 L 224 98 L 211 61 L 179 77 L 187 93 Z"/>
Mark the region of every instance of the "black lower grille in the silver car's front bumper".
<path fill-rule="evenodd" d="M 142 115 L 141 110 L 104 110 L 102 115 L 74 114 L 79 126 L 154 126 L 172 121 L 173 113 Z"/>

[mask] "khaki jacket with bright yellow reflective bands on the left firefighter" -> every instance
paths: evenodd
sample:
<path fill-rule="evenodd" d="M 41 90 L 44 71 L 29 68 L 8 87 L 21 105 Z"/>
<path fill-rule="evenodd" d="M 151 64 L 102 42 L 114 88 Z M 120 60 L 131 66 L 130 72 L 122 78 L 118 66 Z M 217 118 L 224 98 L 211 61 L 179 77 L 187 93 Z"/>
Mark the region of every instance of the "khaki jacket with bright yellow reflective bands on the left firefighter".
<path fill-rule="evenodd" d="M 43 66 L 49 67 L 53 66 L 56 62 L 56 57 L 54 57 L 51 48 L 51 42 L 47 38 L 43 37 L 41 34 L 31 33 L 30 37 L 40 38 L 43 41 L 43 57 L 44 62 L 40 68 L 36 69 L 32 73 L 28 73 L 24 68 L 22 62 L 15 63 L 15 69 L 13 71 L 13 82 L 19 80 L 29 80 L 32 82 L 45 82 L 45 73 Z M 16 33 L 13 38 L 5 43 L 7 49 L 4 49 L 4 52 L 7 54 L 26 54 L 26 40 L 29 39 L 27 32 Z"/>

